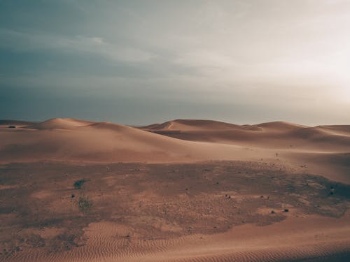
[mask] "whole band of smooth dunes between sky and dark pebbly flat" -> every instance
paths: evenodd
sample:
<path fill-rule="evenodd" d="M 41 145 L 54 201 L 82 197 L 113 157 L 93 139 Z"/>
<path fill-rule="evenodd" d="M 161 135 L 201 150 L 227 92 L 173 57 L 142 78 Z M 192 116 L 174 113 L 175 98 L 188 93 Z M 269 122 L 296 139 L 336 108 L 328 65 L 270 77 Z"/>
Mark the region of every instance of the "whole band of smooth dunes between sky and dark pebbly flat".
<path fill-rule="evenodd" d="M 1 120 L 2 163 L 13 161 L 193 162 L 285 161 L 296 170 L 349 181 L 350 126 L 288 122 L 237 125 L 176 119 L 134 128 L 109 122 Z M 8 125 L 17 126 L 8 129 Z M 322 159 L 322 161 L 320 160 Z M 342 165 L 334 159 L 343 159 Z M 345 159 L 345 160 L 344 160 Z M 337 162 L 339 163 L 339 161 Z M 306 166 L 306 167 L 305 167 Z"/>

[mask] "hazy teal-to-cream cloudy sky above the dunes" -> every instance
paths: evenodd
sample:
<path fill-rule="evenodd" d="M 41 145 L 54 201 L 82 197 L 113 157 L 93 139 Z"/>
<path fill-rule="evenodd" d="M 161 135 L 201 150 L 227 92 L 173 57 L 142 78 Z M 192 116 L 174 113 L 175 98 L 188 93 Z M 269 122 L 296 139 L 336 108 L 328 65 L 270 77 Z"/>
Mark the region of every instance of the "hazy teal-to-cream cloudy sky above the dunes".
<path fill-rule="evenodd" d="M 350 124 L 350 0 L 0 0 L 0 119 Z"/>

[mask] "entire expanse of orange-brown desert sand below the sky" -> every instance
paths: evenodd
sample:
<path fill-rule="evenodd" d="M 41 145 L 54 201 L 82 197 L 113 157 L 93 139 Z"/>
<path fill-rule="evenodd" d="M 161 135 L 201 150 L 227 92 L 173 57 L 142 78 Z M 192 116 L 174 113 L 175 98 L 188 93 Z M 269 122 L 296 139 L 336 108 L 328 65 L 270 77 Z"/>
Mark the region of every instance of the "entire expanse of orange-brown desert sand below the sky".
<path fill-rule="evenodd" d="M 0 163 L 0 261 L 350 258 L 350 126 L 2 120 Z"/>

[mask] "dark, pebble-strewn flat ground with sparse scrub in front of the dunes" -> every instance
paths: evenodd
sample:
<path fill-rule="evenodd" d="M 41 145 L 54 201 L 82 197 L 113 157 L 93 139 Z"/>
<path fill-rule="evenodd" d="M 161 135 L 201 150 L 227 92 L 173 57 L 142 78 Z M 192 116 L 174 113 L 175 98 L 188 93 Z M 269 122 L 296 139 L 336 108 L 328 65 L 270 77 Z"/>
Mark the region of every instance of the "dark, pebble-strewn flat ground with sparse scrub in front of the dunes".
<path fill-rule="evenodd" d="M 342 217 L 349 206 L 349 185 L 316 175 L 295 175 L 264 163 L 213 161 L 111 165 L 113 175 L 104 172 L 105 165 L 13 163 L 6 169 L 0 168 L 0 187 L 6 189 L 6 194 L 2 195 L 3 206 L 0 207 L 0 214 L 3 214 L 0 253 L 12 256 L 16 252 L 25 254 L 30 248 L 40 248 L 43 252 L 74 249 L 87 241 L 83 228 L 99 221 L 118 221 L 125 228 L 132 228 L 130 232 L 118 234 L 118 238 L 133 241 L 134 238 L 150 238 L 150 227 L 152 239 L 165 235 L 169 238 L 188 234 L 208 235 L 245 223 L 266 226 L 286 217 L 293 219 L 288 216 L 294 213 L 293 207 L 300 214 Z M 24 168 L 26 173 L 20 171 Z M 133 172 L 136 168 L 140 169 L 138 173 Z M 204 168 L 211 171 L 203 173 Z M 50 180 L 43 175 L 48 170 Z M 179 175 L 174 176 L 172 170 Z M 99 179 L 97 172 L 101 172 Z M 36 184 L 25 190 L 13 187 L 33 181 Z M 41 192 L 48 191 L 51 181 L 68 184 L 68 187 L 52 187 L 50 196 L 41 195 Z M 141 187 L 135 186 L 140 184 Z M 290 194 L 291 188 L 295 194 Z M 157 196 L 144 194 L 145 190 L 155 191 Z M 330 196 L 331 191 L 334 191 L 333 196 Z M 39 213 L 31 196 L 45 196 L 41 198 Z M 57 198 L 64 205 L 56 205 Z M 56 205 L 52 212 L 44 212 L 51 210 L 52 205 Z M 65 212 L 66 205 L 69 205 L 69 213 Z M 285 208 L 290 209 L 286 212 Z M 18 217 L 14 221 L 9 214 Z M 68 219 L 69 222 L 66 222 Z M 167 221 L 174 224 L 163 227 Z M 15 231 L 13 224 L 16 225 Z M 134 231 L 140 233 L 133 235 Z M 43 240 L 29 235 L 31 233 L 42 233 Z M 18 247 L 22 250 L 18 251 Z"/>

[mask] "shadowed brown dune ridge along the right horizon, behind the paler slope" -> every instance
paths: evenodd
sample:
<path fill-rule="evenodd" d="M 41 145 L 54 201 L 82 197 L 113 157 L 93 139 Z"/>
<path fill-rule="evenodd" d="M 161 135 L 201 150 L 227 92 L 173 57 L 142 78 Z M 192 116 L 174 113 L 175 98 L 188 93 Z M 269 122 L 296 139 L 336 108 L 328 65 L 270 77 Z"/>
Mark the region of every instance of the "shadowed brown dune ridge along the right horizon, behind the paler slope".
<path fill-rule="evenodd" d="M 209 120 L 174 120 L 140 129 L 182 140 L 322 152 L 349 152 L 348 126 L 302 126 L 287 122 L 235 125 Z"/>

